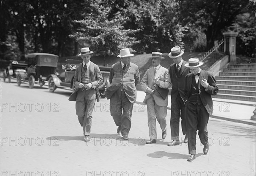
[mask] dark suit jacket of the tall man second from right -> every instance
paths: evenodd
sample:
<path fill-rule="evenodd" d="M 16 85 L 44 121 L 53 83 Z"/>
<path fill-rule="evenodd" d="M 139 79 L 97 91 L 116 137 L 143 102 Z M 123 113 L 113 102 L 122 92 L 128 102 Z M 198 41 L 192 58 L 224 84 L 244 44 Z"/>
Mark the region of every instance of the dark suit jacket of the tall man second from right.
<path fill-rule="evenodd" d="M 172 82 L 172 92 L 171 92 L 171 102 L 174 103 L 178 93 L 180 93 L 180 97 L 184 101 L 184 88 L 185 88 L 185 77 L 189 74 L 189 68 L 185 67 L 185 60 L 183 60 L 181 68 L 180 68 L 180 77 L 177 77 L 175 73 L 176 64 L 173 63 L 170 65 L 169 73 Z"/>

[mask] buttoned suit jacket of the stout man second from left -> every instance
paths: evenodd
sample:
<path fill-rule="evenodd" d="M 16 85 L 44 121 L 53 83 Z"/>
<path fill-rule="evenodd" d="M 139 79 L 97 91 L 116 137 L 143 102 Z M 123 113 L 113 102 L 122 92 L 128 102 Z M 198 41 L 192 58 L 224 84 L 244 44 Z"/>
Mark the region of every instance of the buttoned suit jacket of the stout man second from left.
<path fill-rule="evenodd" d="M 135 102 L 137 96 L 136 85 L 140 82 L 138 66 L 130 62 L 123 70 L 121 62 L 113 64 L 110 69 L 109 82 L 111 86 L 107 89 L 108 99 L 122 86 L 129 101 L 131 103 Z"/>

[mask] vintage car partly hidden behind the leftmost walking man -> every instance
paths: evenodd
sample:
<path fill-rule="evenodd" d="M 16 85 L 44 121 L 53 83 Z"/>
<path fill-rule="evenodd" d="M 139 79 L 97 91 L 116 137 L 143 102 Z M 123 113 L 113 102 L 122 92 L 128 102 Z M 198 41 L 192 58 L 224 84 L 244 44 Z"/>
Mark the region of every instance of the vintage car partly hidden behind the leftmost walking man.
<path fill-rule="evenodd" d="M 56 88 L 70 88 L 74 91 L 73 79 L 75 77 L 75 71 L 78 65 L 81 63 L 81 60 L 72 60 L 67 59 L 66 65 L 62 65 L 64 70 L 59 76 L 52 75 L 48 81 L 48 88 L 50 92 L 54 92 Z M 107 88 L 110 86 L 108 77 L 109 77 L 109 67 L 99 66 L 101 70 L 103 83 L 99 86 L 100 96 L 102 98 L 106 97 Z"/>

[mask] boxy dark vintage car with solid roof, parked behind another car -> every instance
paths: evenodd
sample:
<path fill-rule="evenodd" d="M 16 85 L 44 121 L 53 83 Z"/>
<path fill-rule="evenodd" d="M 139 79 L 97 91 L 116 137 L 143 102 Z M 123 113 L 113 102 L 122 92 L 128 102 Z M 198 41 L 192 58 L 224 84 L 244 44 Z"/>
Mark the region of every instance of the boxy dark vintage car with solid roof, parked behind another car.
<path fill-rule="evenodd" d="M 43 86 L 52 75 L 58 76 L 57 62 L 58 56 L 48 53 L 31 53 L 25 56 L 27 67 L 19 70 L 17 74 L 17 84 L 29 81 L 29 88 L 34 88 L 35 83 Z"/>

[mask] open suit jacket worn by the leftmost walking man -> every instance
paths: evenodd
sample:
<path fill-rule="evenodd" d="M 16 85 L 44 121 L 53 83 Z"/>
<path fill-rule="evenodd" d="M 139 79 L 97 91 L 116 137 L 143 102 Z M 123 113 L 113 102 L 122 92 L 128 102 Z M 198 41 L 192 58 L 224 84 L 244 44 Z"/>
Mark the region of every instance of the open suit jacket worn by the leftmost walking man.
<path fill-rule="evenodd" d="M 78 90 L 78 85 L 81 83 L 82 67 L 83 67 L 83 63 L 79 64 L 79 66 L 76 68 L 75 77 L 74 77 L 74 86 L 76 88 L 76 91 Z M 91 83 L 93 85 L 92 88 L 96 90 L 96 99 L 97 99 L 97 102 L 99 102 L 100 95 L 99 95 L 98 87 L 100 85 L 102 85 L 102 82 L 103 82 L 102 74 L 99 70 L 99 66 L 91 61 L 90 61 L 89 68 L 90 68 L 90 79 L 92 80 Z M 74 98 L 72 98 L 72 99 L 74 99 Z M 71 101 L 73 101 L 73 100 L 71 100 Z"/>

